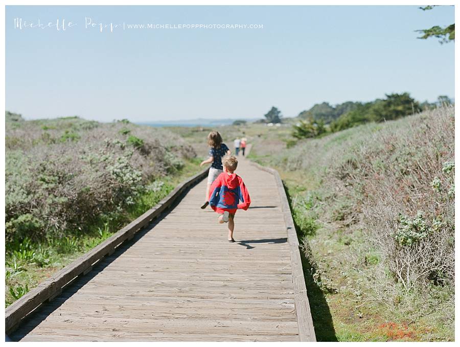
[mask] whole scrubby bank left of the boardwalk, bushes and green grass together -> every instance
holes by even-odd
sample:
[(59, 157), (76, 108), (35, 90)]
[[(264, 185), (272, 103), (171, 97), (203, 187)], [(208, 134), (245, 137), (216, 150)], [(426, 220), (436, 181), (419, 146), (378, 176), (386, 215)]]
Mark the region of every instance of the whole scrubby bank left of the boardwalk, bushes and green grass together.
[(6, 116), (6, 306), (199, 170), (166, 129)]

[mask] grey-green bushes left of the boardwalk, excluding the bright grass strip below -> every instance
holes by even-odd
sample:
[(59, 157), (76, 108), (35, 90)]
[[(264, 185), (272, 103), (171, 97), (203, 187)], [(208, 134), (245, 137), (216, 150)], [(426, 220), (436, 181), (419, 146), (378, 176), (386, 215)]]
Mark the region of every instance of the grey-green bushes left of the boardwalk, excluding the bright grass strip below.
[(195, 156), (179, 136), (129, 122), (19, 118), (6, 134), (7, 242), (85, 232)]

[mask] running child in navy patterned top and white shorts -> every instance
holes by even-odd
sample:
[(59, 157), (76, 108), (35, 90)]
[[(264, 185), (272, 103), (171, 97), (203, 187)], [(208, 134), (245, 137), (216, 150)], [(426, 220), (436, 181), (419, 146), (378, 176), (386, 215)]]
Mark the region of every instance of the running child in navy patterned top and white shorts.
[(225, 154), (229, 155), (231, 153), (227, 145), (222, 143), (222, 137), (220, 136), (218, 131), (211, 131), (208, 134), (208, 145), (211, 146), (209, 150), (209, 158), (201, 161), (200, 163), (200, 166), (212, 163), (208, 173), (208, 185), (206, 186), (206, 200), (201, 205), (202, 209), (205, 209), (206, 206), (208, 206), (209, 204), (208, 198), (211, 183), (214, 182), (217, 176), (219, 176), (223, 172), (222, 157)]

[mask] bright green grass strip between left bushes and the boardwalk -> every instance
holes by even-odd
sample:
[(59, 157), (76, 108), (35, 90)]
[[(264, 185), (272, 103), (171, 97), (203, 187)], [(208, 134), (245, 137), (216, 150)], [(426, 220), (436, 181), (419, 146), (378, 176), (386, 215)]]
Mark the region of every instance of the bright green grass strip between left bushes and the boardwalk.
[(197, 158), (188, 160), (175, 174), (151, 182), (126, 211), (101, 215), (88, 233), (70, 230), (63, 238), (41, 241), (25, 238), (7, 244), (5, 307), (156, 205), (177, 184), (200, 171), (199, 163)]

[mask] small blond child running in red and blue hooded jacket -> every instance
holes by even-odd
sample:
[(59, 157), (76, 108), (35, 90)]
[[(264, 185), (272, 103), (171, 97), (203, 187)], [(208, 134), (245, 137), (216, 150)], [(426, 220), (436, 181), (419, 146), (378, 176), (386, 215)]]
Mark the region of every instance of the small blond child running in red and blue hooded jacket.
[(235, 242), (233, 230), (235, 228), (235, 213), (237, 209), (247, 210), (251, 199), (244, 185), (243, 179), (234, 171), (238, 166), (238, 159), (234, 155), (223, 159), (224, 172), (211, 185), (209, 204), (220, 214), (219, 223), (228, 222), (228, 242)]

